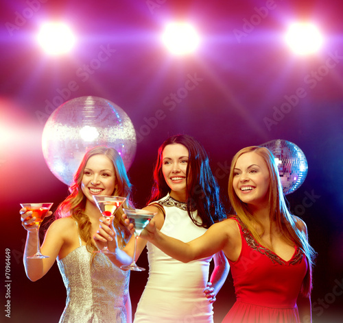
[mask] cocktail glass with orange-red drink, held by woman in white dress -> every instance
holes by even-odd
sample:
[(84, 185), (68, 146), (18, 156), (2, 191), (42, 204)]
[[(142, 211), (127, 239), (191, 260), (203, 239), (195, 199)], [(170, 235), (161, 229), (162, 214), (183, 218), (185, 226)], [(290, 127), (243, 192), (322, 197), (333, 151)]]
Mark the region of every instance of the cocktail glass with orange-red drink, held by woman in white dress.
[[(100, 212), (102, 212), (102, 216), (104, 216), (106, 220), (110, 221), (110, 224), (113, 222), (115, 213), (119, 207), (126, 201), (126, 198), (121, 196), (93, 195), (93, 198)], [(102, 250), (97, 250), (95, 252), (112, 253), (110, 250), (108, 250), (107, 244)]]

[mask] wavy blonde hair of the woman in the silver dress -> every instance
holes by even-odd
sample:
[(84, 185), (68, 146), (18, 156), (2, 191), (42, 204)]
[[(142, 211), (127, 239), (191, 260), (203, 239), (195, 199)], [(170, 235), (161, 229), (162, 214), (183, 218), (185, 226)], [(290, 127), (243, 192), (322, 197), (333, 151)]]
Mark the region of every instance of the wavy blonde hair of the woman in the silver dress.
[(71, 216), (78, 222), (78, 231), (81, 239), (86, 242), (86, 248), (90, 253), (97, 250), (97, 246), (93, 242), (91, 235), (91, 220), (84, 214), (84, 208), (86, 207), (86, 196), (82, 192), (81, 183), (84, 176), (84, 168), (86, 167), (88, 159), (95, 155), (104, 155), (113, 162), (115, 168), (115, 190), (112, 195), (126, 197), (125, 203), (121, 205), (117, 211), (115, 219), (113, 220), (113, 226), (120, 233), (118, 244), (120, 247), (126, 245), (130, 238), (130, 231), (126, 228), (123, 222), (121, 214), (123, 214), (124, 208), (132, 208), (133, 203), (130, 198), (132, 185), (126, 174), (126, 169), (123, 164), (119, 153), (114, 148), (107, 148), (104, 146), (98, 146), (87, 151), (84, 155), (78, 170), (73, 177), (73, 183), (69, 186), (69, 196), (58, 205), (56, 210), (56, 218), (64, 218)]

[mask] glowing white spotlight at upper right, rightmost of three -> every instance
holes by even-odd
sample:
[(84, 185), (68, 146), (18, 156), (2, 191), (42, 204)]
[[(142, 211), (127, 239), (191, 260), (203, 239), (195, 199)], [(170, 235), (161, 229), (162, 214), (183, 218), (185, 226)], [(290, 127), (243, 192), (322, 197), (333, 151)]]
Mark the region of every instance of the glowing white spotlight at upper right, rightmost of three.
[(289, 47), (299, 55), (316, 53), (322, 45), (322, 35), (311, 23), (294, 23), (285, 36)]

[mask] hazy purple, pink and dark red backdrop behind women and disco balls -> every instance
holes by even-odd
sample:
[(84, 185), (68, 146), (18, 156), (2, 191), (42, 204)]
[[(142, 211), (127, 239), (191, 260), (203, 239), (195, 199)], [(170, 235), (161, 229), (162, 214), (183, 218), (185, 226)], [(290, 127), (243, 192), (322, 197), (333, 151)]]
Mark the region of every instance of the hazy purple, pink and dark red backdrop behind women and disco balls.
[[(67, 196), (67, 186), (45, 163), (41, 135), (51, 112), (79, 96), (108, 99), (132, 120), (141, 138), (129, 170), (139, 207), (150, 193), (157, 148), (169, 135), (187, 133), (202, 142), (228, 207), (225, 166), (240, 148), (276, 139), (298, 145), (309, 172), (287, 200), (294, 210), (304, 206), (306, 196), (313, 198), (311, 205), (298, 207), (303, 210), (298, 216), (307, 222), (318, 251), (314, 322), (338, 322), (343, 297), (335, 294), (342, 289), (343, 272), (342, 9), (342, 1), (319, 0), (3, 2), (1, 209), (10, 219), (2, 241), (3, 249), (12, 251), (13, 322), (57, 322), (64, 307), (57, 266), (36, 283), (25, 276), (19, 203), (38, 198), (58, 205)], [(40, 22), (50, 19), (69, 23), (78, 37), (67, 57), (47, 57), (34, 40)], [(161, 44), (165, 23), (175, 19), (196, 25), (202, 42), (193, 55), (174, 57)], [(324, 34), (316, 55), (296, 56), (284, 43), (287, 26), (299, 19), (314, 21)], [(108, 59), (87, 70), (104, 48)], [(180, 92), (191, 78), (196, 87)], [(145, 131), (158, 110), (164, 118)], [(147, 266), (145, 258), (139, 261)], [(131, 277), (135, 309), (147, 274)], [(233, 299), (228, 279), (215, 303), (218, 322)]]

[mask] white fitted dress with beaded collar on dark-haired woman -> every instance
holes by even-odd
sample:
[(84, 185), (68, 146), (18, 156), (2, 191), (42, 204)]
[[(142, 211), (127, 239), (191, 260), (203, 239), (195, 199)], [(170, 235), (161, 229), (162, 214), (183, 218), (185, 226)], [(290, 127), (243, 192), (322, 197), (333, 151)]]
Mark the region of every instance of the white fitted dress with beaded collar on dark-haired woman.
[[(183, 242), (204, 234), (187, 214), (186, 203), (167, 195), (158, 201), (165, 209), (161, 232)], [(196, 220), (200, 218), (196, 216)], [(139, 300), (134, 323), (212, 323), (213, 305), (204, 295), (213, 256), (189, 263), (177, 261), (147, 242), (149, 279)]]

